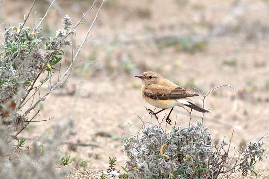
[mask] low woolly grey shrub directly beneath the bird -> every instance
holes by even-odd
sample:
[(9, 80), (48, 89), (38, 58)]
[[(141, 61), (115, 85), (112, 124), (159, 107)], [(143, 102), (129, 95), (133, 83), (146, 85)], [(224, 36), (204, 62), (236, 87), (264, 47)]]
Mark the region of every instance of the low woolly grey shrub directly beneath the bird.
[[(204, 104), (207, 94), (202, 96)], [(189, 114), (191, 116), (191, 111)], [(264, 143), (260, 142), (265, 136), (248, 143), (247, 149), (239, 151), (236, 158), (235, 154), (229, 156), (232, 137), (229, 142), (223, 139), (221, 144), (213, 145), (210, 130), (202, 123), (189, 123), (189, 127), (183, 128), (174, 126), (169, 132), (163, 130), (161, 122), (158, 126), (152, 122), (145, 126), (146, 122), (143, 122), (141, 134), (135, 133), (124, 139), (125, 168), (129, 178), (216, 179), (229, 178), (241, 170), (243, 176), (248, 172), (257, 176), (255, 161), (266, 157), (262, 149)]]

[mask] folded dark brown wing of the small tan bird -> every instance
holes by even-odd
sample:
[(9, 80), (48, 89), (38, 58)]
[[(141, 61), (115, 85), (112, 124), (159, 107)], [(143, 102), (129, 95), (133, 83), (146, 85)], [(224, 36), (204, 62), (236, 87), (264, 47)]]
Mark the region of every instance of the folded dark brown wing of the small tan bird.
[(152, 99), (180, 99), (192, 96), (199, 96), (199, 94), (190, 94), (184, 88), (177, 87), (167, 93), (156, 93), (148, 88), (144, 90), (144, 94)]

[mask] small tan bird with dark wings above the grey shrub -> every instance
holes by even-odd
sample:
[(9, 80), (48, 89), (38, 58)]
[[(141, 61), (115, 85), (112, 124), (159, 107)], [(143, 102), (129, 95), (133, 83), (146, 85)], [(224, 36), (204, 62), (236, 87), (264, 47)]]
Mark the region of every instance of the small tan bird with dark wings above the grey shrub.
[(142, 80), (142, 98), (146, 100), (149, 104), (162, 108), (162, 110), (154, 113), (152, 110), (148, 109), (152, 115), (158, 119), (156, 114), (161, 111), (172, 108), (169, 112), (166, 122), (170, 124), (171, 120), (169, 116), (175, 106), (187, 106), (194, 110), (197, 110), (202, 113), (209, 113), (208, 110), (200, 108), (199, 106), (192, 103), (192, 100), (189, 97), (199, 96), (199, 94), (190, 94), (185, 89), (179, 87), (175, 83), (161, 77), (153, 71), (147, 71), (142, 73), (141, 76), (135, 76)]

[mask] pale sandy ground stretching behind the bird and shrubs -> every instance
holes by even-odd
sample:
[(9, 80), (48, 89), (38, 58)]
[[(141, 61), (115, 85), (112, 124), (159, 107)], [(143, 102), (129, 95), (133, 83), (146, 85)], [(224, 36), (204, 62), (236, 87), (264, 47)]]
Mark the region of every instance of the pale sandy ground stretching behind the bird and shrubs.
[[(0, 8), (10, 18), (2, 17), (2, 21), (17, 26), (28, 12), (30, 2), (3, 1)], [(249, 141), (258, 141), (269, 132), (269, 4), (258, 0), (234, 3), (106, 1), (91, 31), (93, 39), (86, 42), (79, 55), (80, 64), (68, 78), (67, 85), (46, 98), (36, 117), (36, 120), (54, 119), (32, 124), (21, 136), (42, 136), (52, 123), (65, 122), (71, 111), (77, 135), (69, 140), (99, 147), (77, 147), (72, 151), (63, 146), (62, 152), (87, 160), (85, 169), (106, 169), (108, 156), (116, 157), (115, 167), (122, 170), (120, 165), (126, 156), (121, 151), (119, 138), (134, 133), (131, 125), (125, 129), (124, 126), (132, 122), (138, 131), (142, 124), (139, 117), (150, 120), (144, 105), (154, 109), (143, 101), (141, 81), (134, 75), (155, 71), (189, 92), (195, 91), (192, 88), (195, 87), (206, 94), (223, 84), (237, 88), (239, 92), (229, 87), (218, 88), (206, 97), (205, 108), (210, 109), (210, 113), (205, 115), (203, 125), (209, 127), (215, 142), (225, 136), (229, 141), (234, 129), (231, 146), (235, 150), (245, 147)], [(77, 22), (91, 3), (57, 1), (56, 5), (60, 10), (45, 21), (44, 32), (58, 30), (61, 21), (55, 19), (62, 19), (65, 14)], [(42, 6), (37, 3), (34, 11), (41, 16), (47, 7), (47, 3)], [(97, 8), (78, 29), (78, 44), (96, 11)], [(206, 43), (196, 43), (201, 39)], [(71, 55), (71, 49), (66, 54)], [(88, 63), (93, 64), (86, 73), (81, 73)], [(68, 95), (70, 91), (76, 91), (79, 96)], [(43, 88), (42, 93), (45, 92)], [(201, 105), (198, 98), (194, 101)], [(165, 113), (169, 111), (159, 116)], [(194, 113), (200, 121), (201, 113)], [(188, 126), (188, 114), (183, 108), (173, 110), (172, 126), (176, 116), (176, 125)], [(192, 118), (195, 122), (195, 116)], [(264, 148), (269, 148), (268, 138), (262, 141), (266, 143)], [(255, 165), (256, 169), (268, 169), (269, 159)]]

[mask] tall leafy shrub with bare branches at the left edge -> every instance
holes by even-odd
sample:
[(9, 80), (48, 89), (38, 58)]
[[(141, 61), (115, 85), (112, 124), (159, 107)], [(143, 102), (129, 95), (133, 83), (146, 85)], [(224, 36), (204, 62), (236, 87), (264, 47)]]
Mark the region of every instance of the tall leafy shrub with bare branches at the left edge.
[[(82, 24), (85, 16), (96, 6), (96, 0), (89, 10), (82, 14), (77, 24), (65, 15), (62, 29), (57, 30), (53, 37), (42, 36), (42, 22), (53, 13), (51, 7), (54, 1), (43, 18), (35, 17), (32, 28), (25, 26), (30, 14), (34, 14), (32, 9), (35, 2), (22, 23), (3, 30), (4, 42), (0, 54), (0, 178), (5, 179), (59, 179), (68, 172), (67, 167), (59, 171), (56, 171), (55, 167), (61, 163), (68, 165), (72, 161), (70, 156), (61, 158), (59, 146), (76, 133), (73, 120), (68, 118), (64, 124), (53, 124), (50, 132), (45, 133), (43, 138), (34, 139), (31, 146), (25, 146), (27, 140), (19, 137), (19, 134), (30, 122), (50, 120), (35, 121), (39, 114), (37, 107), (53, 90), (65, 83), (75, 66), (74, 63), (79, 63), (77, 56), (88, 40), (99, 13), (98, 11), (80, 46), (75, 48), (71, 62), (66, 63), (62, 58), (65, 48), (72, 45), (70, 37), (77, 34), (77, 26)], [(36, 21), (38, 22), (35, 23)], [(42, 74), (45, 74), (45, 77)], [(55, 76), (58, 80), (53, 83), (51, 79)], [(41, 87), (47, 88), (45, 94), (40, 90)], [(83, 160), (81, 166), (84, 168), (86, 165), (87, 161)]]

